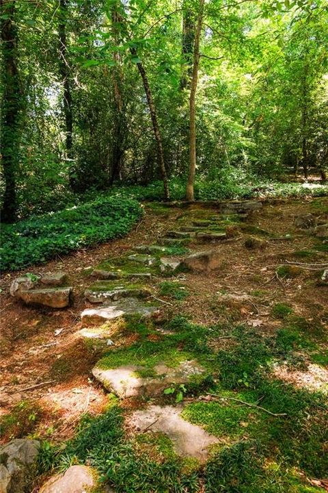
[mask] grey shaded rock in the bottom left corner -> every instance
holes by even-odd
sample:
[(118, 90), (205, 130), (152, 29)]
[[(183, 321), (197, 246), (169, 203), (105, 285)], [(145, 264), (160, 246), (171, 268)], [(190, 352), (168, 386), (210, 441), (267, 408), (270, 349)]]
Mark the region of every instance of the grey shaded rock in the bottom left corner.
[(0, 493), (25, 493), (40, 442), (19, 438), (0, 447)]

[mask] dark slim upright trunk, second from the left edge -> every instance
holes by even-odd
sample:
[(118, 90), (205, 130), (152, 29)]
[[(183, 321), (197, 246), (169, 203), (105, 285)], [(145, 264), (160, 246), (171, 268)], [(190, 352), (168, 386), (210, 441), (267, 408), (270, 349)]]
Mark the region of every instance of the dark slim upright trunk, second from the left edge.
[(64, 89), (64, 116), (65, 116), (65, 131), (66, 131), (66, 153), (68, 159), (72, 159), (72, 131), (73, 131), (73, 116), (72, 116), (72, 92), (70, 90), (70, 67), (67, 60), (67, 44), (66, 44), (66, 22), (68, 17), (68, 1), (59, 0), (59, 73)]

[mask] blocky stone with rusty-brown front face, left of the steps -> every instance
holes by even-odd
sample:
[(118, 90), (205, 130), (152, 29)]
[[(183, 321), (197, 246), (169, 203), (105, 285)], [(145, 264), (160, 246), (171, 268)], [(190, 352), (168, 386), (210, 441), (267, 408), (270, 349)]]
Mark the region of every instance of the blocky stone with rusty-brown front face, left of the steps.
[(70, 305), (72, 288), (46, 288), (19, 290), (16, 296), (27, 305), (42, 305), (51, 308), (64, 308)]

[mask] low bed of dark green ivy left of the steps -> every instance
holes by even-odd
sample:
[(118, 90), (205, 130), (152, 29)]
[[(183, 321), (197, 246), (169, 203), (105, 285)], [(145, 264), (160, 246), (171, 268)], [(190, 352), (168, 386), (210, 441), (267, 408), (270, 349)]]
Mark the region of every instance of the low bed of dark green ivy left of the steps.
[(57, 253), (68, 253), (124, 236), (141, 215), (141, 207), (136, 201), (99, 197), (61, 212), (5, 225), (2, 230), (1, 269), (17, 270), (44, 262)]

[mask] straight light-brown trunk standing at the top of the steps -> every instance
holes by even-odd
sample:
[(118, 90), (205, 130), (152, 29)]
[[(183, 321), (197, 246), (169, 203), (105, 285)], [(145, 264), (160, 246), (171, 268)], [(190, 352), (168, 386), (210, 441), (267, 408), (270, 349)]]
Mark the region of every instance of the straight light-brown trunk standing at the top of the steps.
[(198, 81), (198, 67), (200, 65), (200, 35), (202, 32), (204, 13), (204, 0), (200, 0), (200, 10), (197, 16), (197, 27), (195, 32), (195, 45), (193, 48), (193, 73), (191, 77), (191, 88), (189, 98), (189, 175), (186, 187), (186, 199), (195, 201), (193, 186), (195, 183), (196, 170), (196, 121), (195, 121), (195, 98)]

